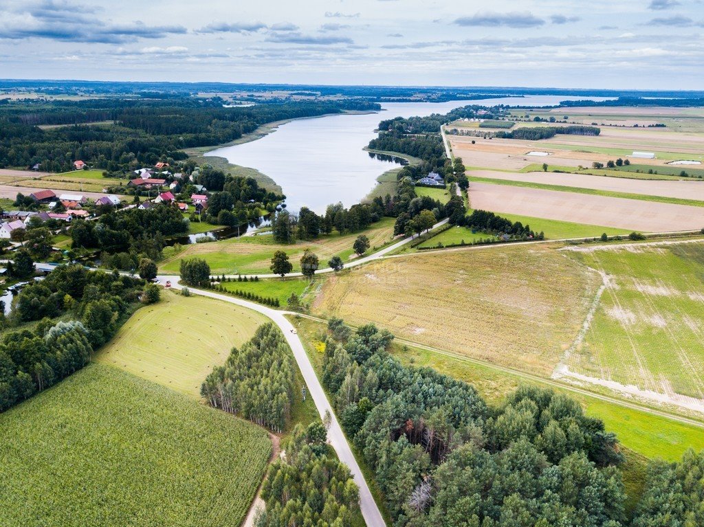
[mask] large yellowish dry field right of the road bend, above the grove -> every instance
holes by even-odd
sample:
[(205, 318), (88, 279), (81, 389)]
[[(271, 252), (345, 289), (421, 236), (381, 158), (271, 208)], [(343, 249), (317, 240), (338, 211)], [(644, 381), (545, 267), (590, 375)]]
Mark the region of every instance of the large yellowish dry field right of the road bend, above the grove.
[(597, 285), (592, 273), (547, 246), (507, 245), (351, 269), (325, 282), (312, 310), (549, 375), (582, 325)]

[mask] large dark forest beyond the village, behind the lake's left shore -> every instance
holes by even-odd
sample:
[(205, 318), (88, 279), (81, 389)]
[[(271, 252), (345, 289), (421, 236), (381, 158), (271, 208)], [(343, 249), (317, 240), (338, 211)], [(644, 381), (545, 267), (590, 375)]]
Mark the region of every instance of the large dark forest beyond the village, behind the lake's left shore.
[[(375, 110), (359, 100), (260, 104), (223, 108), (203, 99), (92, 99), (45, 101), (41, 105), (13, 101), (0, 106), (0, 167), (30, 166), (63, 172), (73, 161), (106, 170), (134, 170), (158, 160), (182, 160), (183, 148), (210, 146), (239, 139), (259, 125), (344, 110)], [(109, 116), (108, 116), (109, 114)], [(108, 119), (106, 119), (108, 118)], [(111, 120), (115, 124), (80, 124)], [(76, 123), (41, 129), (40, 124)]]

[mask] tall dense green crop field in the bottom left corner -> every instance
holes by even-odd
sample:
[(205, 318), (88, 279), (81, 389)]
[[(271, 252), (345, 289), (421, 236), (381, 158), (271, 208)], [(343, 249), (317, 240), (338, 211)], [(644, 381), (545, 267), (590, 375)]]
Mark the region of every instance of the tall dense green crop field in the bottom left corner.
[(103, 364), (0, 414), (4, 527), (232, 526), (271, 453), (262, 428)]

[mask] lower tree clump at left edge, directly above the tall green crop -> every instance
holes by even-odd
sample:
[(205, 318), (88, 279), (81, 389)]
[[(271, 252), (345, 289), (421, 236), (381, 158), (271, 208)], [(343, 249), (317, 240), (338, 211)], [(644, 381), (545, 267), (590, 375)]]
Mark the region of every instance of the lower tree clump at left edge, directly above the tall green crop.
[(34, 331), (5, 334), (0, 341), (0, 412), (84, 367), (93, 348), (78, 321), (44, 319)]

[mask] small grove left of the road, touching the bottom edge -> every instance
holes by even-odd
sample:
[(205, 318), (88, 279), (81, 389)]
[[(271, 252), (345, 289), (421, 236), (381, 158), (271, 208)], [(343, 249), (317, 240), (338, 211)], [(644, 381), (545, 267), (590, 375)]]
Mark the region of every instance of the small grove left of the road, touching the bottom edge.
[(262, 485), (266, 509), (256, 527), (346, 527), (359, 510), (359, 490), (348, 467), (326, 445), (325, 427), (296, 425)]

